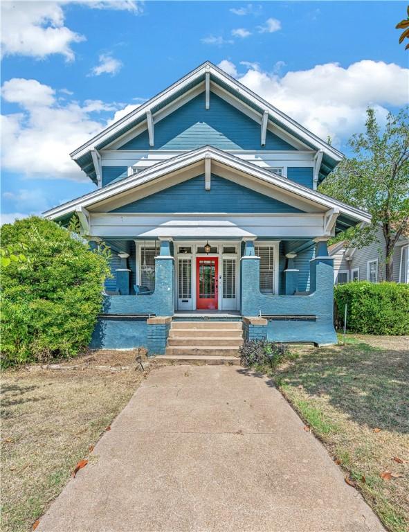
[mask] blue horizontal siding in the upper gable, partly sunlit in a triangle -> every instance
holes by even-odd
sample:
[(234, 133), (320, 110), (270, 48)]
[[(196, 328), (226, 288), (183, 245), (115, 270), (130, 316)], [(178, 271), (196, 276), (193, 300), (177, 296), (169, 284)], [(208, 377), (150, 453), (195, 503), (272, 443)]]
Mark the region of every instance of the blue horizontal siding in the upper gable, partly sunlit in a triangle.
[(270, 131), (262, 148), (259, 124), (215, 94), (206, 110), (204, 92), (155, 125), (153, 148), (146, 130), (119, 149), (194, 150), (203, 145), (221, 150), (296, 150)]

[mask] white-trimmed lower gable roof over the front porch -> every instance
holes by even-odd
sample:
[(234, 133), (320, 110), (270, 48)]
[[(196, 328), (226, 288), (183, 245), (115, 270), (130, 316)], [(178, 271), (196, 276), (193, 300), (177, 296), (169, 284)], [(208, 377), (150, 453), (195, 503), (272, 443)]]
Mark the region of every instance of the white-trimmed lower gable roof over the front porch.
[[(335, 213), (339, 213), (338, 219), (340, 220), (341, 229), (343, 225), (350, 227), (357, 222), (370, 223), (371, 216), (365, 211), (338, 202), (336, 199), (332, 199), (316, 190), (311, 190), (310, 188), (302, 186), (295, 181), (291, 181), (286, 177), (281, 177), (269, 170), (264, 170), (259, 166), (255, 166), (253, 163), (239, 159), (232, 154), (217, 150), (217, 148), (212, 148), (211, 146), (204, 146), (203, 148), (192, 150), (191, 152), (179, 154), (172, 159), (166, 159), (161, 163), (156, 163), (154, 166), (138, 172), (137, 174), (120, 179), (120, 181), (104, 186), (104, 188), (98, 188), (98, 190), (87, 195), (73, 199), (71, 202), (66, 202), (54, 209), (46, 211), (44, 215), (51, 220), (64, 218), (64, 216), (70, 215), (78, 209), (87, 209), (87, 207), (96, 206), (102, 202), (113, 199), (114, 197), (126, 195), (131, 190), (135, 190), (140, 186), (146, 185), (155, 179), (170, 175), (173, 172), (180, 172), (182, 169), (188, 167), (194, 168), (209, 158), (212, 163), (219, 163), (225, 168), (228, 168), (228, 170), (242, 172), (248, 177), (256, 179), (271, 188), (272, 191), (275, 190), (279, 193), (284, 193), (290, 198), (292, 197), (298, 201), (302, 200), (322, 210), (330, 211), (333, 209)], [(198, 173), (199, 172), (201, 172), (201, 170), (198, 170)]]

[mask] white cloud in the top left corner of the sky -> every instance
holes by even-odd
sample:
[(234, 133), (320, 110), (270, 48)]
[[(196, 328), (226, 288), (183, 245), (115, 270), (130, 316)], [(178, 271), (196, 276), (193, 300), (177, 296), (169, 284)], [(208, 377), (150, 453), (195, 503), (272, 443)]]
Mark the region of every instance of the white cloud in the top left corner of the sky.
[(60, 53), (74, 59), (71, 44), (85, 39), (64, 26), (61, 4), (53, 1), (1, 2), (3, 55), (29, 55), (43, 59)]

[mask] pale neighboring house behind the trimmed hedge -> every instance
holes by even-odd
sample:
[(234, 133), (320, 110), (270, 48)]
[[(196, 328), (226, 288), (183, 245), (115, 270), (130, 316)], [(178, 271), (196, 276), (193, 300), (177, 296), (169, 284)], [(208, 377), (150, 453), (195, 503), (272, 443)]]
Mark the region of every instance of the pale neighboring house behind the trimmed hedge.
[[(346, 242), (329, 246), (328, 254), (334, 257), (334, 283), (349, 281), (385, 281), (385, 239), (382, 229), (376, 241), (361, 249), (347, 247)], [(394, 248), (393, 281), (409, 283), (409, 237), (402, 237)]]

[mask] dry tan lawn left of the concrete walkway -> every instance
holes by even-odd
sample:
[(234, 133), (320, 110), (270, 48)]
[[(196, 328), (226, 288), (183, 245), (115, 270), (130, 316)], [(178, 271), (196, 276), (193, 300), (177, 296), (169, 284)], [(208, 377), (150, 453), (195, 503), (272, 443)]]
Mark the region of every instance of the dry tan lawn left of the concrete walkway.
[(31, 529), (62, 491), (80, 459), (98, 459), (90, 445), (122, 410), (144, 374), (103, 371), (131, 366), (135, 353), (98, 353), (64, 365), (2, 375), (1, 499), (3, 532)]

